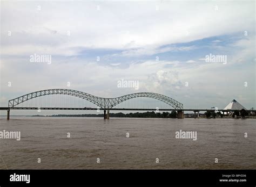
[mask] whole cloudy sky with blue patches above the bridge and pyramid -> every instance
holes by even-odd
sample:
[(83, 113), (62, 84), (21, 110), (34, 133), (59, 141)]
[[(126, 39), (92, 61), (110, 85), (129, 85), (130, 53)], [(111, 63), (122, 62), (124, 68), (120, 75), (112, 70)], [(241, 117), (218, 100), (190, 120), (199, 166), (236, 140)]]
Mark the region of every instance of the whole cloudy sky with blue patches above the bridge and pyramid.
[[(31, 62), (34, 54), (51, 63)], [(206, 62), (210, 54), (227, 61)], [(184, 108), (222, 109), (232, 99), (255, 108), (255, 2), (1, 1), (0, 68), (1, 106), (66, 88), (100, 97), (157, 92)], [(122, 79), (139, 89), (118, 88)]]

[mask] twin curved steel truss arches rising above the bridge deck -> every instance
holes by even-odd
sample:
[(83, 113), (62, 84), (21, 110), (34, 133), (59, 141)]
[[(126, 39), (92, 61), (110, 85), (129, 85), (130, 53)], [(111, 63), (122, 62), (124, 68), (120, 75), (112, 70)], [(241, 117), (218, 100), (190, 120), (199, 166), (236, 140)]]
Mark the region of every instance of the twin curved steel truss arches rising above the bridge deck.
[(53, 95), (53, 94), (62, 94), (62, 95), (70, 95), (75, 96), (79, 98), (83, 98), (88, 100), (91, 103), (96, 104), (97, 106), (101, 107), (102, 109), (111, 109), (113, 106), (116, 106), (119, 103), (124, 102), (125, 100), (129, 100), (136, 97), (147, 97), (147, 98), (153, 98), (158, 99), (170, 106), (172, 106), (174, 109), (182, 110), (183, 104), (177, 102), (177, 100), (172, 99), (171, 97), (161, 95), (159, 93), (153, 93), (153, 92), (139, 92), (139, 93), (131, 93), (129, 95), (120, 96), (116, 98), (104, 98), (104, 97), (97, 97), (90, 95), (89, 93), (85, 93), (82, 91), (77, 90), (69, 90), (69, 89), (48, 89), (48, 90), (41, 90), (41, 91), (35, 91), (32, 93), (28, 93), (26, 95), (23, 95), (21, 97), (17, 97), (15, 99), (9, 100), (8, 107), (14, 107), (18, 104), (21, 104), (25, 102), (26, 100), (30, 100), (36, 97), (41, 97), (45, 95)]

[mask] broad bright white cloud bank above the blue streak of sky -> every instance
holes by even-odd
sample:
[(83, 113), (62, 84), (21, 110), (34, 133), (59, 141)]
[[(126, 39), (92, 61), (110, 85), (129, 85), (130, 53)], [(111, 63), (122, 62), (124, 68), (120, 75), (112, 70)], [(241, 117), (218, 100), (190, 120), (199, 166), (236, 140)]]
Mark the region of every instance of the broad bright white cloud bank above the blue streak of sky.
[(254, 25), (250, 2), (218, 2), (219, 11), (215, 11), (214, 2), (161, 2), (159, 11), (155, 2), (57, 1), (40, 5), (38, 11), (37, 2), (2, 2), (4, 54), (16, 54), (9, 50), (10, 46), (14, 51), (24, 48), (21, 53), (26, 54), (40, 46), (63, 55), (77, 54), (79, 47), (123, 49), (123, 55), (162, 53), (173, 50), (160, 49), (163, 45), (230, 31), (253, 31)]

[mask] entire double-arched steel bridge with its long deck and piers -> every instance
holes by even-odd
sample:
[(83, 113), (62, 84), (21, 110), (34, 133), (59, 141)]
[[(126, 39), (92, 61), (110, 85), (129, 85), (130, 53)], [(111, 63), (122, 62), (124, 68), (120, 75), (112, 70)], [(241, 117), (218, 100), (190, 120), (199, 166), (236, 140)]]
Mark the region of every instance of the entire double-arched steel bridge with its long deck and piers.
[[(73, 97), (78, 97), (85, 99), (98, 107), (28, 107), (28, 106), (19, 106), (22, 103), (27, 102), (28, 100), (35, 99), (38, 97), (48, 96), (48, 95), (69, 95)], [(133, 98), (152, 98), (157, 99), (160, 102), (166, 103), (167, 106), (170, 108), (167, 109), (156, 109), (156, 108), (118, 108), (115, 107), (116, 105), (125, 102), (126, 100), (133, 99)], [(82, 91), (77, 90), (70, 90), (70, 89), (48, 89), (48, 90), (40, 90), (31, 93), (27, 93), (25, 95), (19, 96), (14, 99), (10, 99), (8, 102), (8, 107), (0, 107), (0, 110), (7, 111), (7, 119), (10, 119), (10, 110), (97, 110), (97, 111), (104, 111), (104, 119), (109, 119), (109, 111), (117, 111), (117, 110), (130, 110), (130, 111), (177, 111), (178, 118), (184, 118), (184, 111), (194, 111), (194, 115), (196, 117), (196, 112), (199, 111), (215, 111), (215, 109), (183, 109), (183, 104), (178, 102), (177, 100), (161, 95), (159, 93), (153, 92), (138, 92), (138, 93), (131, 93), (129, 95), (124, 95), (115, 98), (104, 98), (90, 95), (89, 93), (85, 93)], [(230, 112), (230, 110), (218, 110), (223, 112)]]

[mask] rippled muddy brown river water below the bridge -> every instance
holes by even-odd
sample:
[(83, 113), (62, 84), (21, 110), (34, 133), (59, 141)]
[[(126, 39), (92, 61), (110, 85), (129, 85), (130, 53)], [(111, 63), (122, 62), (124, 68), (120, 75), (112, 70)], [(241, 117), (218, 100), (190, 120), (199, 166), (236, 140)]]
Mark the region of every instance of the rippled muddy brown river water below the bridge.
[(21, 141), (0, 139), (0, 169), (256, 169), (255, 119), (11, 118), (0, 131)]

